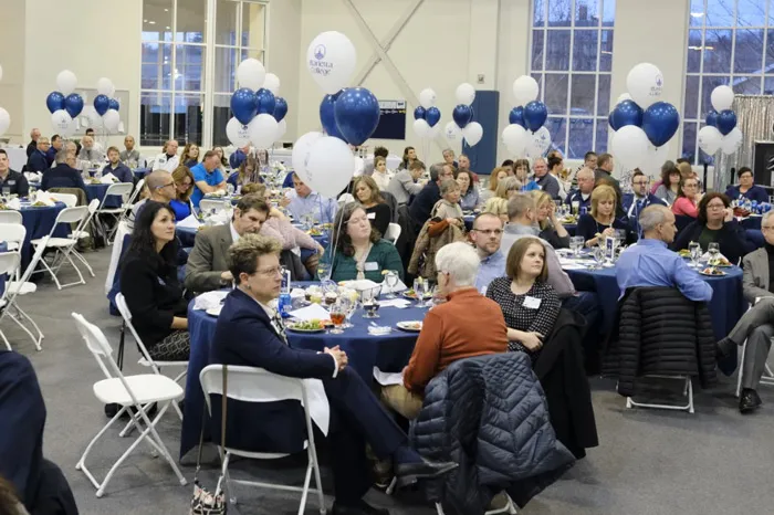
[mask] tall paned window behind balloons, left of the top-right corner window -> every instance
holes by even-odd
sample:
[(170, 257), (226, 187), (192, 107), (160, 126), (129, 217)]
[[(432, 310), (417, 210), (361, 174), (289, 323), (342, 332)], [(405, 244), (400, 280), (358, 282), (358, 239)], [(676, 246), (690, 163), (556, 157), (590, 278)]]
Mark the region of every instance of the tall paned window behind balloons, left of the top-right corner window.
[(531, 73), (552, 146), (571, 159), (607, 150), (615, 11), (615, 0), (533, 0)]

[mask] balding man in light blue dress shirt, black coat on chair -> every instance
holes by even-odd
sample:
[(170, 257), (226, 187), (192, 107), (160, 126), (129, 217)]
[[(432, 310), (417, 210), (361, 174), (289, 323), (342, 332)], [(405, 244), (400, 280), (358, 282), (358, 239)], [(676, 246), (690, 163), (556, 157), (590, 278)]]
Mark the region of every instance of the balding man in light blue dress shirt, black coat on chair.
[(689, 299), (709, 302), (712, 287), (667, 245), (674, 240), (674, 214), (665, 206), (650, 206), (639, 217), (642, 238), (625, 250), (616, 263), (620, 295), (630, 287), (677, 287)]

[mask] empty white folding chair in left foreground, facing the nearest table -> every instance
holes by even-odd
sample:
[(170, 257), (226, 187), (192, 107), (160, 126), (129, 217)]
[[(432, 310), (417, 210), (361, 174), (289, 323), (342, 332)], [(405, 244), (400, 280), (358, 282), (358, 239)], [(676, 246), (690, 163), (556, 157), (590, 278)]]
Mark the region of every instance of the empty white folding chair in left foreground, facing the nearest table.
[[(187, 481), (180, 473), (177, 463), (172, 459), (171, 454), (167, 450), (166, 445), (161, 441), (161, 437), (156, 432), (156, 424), (161, 419), (164, 413), (166, 413), (169, 404), (177, 402), (185, 395), (182, 388), (177, 382), (172, 381), (166, 376), (158, 374), (143, 374), (137, 376), (124, 376), (121, 369), (113, 359), (113, 348), (111, 344), (105, 338), (105, 335), (93, 324), (86, 322), (86, 319), (73, 313), (73, 318), (75, 319), (75, 325), (77, 326), (79, 333), (83, 336), (86, 347), (91, 350), (94, 359), (96, 359), (97, 365), (105, 375), (105, 379), (94, 383), (94, 396), (102, 403), (116, 403), (121, 404), (121, 410), (111, 419), (109, 422), (88, 442), (86, 450), (79, 460), (75, 469), (83, 471), (92, 482), (96, 491), (96, 496), (102, 497), (107, 483), (113, 477), (113, 474), (118, 469), (118, 466), (126, 460), (126, 458), (132, 454), (132, 451), (142, 442), (147, 441), (151, 448), (151, 451), (158, 452), (164, 456), (164, 459), (169, 463), (169, 466), (175, 471), (175, 475), (180, 481), (181, 485), (186, 485)], [(145, 412), (145, 407), (158, 402), (160, 409), (156, 418), (150, 421), (147, 413)], [(129, 409), (133, 408), (133, 409)], [(92, 450), (92, 446), (96, 441), (113, 425), (113, 423), (118, 420), (125, 412), (129, 413), (129, 417), (134, 420), (137, 428), (144, 428), (137, 440), (129, 445), (129, 448), (122, 454), (122, 456), (116, 461), (102, 483), (97, 482), (92, 473), (86, 469), (86, 456)], [(154, 452), (154, 458), (155, 458)]]

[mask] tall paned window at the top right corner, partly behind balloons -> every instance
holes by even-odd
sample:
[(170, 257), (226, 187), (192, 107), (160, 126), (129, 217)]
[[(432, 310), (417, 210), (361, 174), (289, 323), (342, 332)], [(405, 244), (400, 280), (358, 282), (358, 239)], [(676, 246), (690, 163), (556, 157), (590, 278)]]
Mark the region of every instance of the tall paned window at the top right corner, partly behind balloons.
[(774, 94), (774, 0), (691, 0), (686, 72), (682, 157), (712, 164), (697, 141), (712, 90)]

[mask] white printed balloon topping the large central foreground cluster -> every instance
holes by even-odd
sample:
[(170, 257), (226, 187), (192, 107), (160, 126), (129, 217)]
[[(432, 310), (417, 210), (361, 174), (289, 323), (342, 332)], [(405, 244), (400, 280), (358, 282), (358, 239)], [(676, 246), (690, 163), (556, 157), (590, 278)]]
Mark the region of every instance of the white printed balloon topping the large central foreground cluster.
[(325, 93), (333, 95), (349, 84), (357, 52), (352, 41), (341, 32), (323, 32), (306, 49), (306, 63), (312, 78)]

